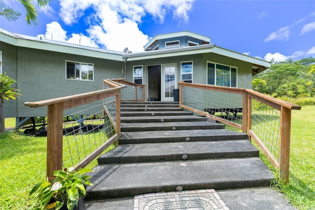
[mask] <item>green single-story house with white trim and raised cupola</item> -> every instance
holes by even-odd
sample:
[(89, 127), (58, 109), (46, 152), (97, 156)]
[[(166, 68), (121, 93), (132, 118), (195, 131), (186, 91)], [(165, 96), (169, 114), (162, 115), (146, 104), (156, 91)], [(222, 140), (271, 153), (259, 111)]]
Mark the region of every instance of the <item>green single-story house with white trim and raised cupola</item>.
[(46, 116), (24, 102), (101, 90), (103, 79), (126, 78), (146, 85), (146, 100), (172, 101), (179, 81), (251, 89), (252, 76), (270, 67), (190, 31), (156, 35), (127, 54), (0, 29), (0, 60), (23, 94), (4, 103), (5, 118)]

